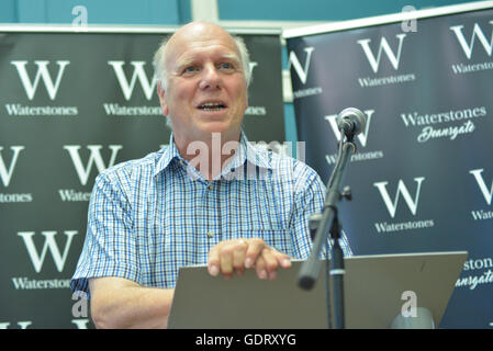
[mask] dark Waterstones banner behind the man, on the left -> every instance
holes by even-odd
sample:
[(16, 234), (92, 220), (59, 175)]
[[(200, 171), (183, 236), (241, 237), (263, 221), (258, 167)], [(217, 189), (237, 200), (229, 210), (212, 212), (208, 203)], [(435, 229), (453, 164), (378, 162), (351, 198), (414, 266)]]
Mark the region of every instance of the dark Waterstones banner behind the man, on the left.
[[(152, 59), (171, 32), (0, 27), (0, 329), (93, 327), (69, 290), (90, 193), (169, 143)], [(244, 129), (282, 145), (280, 31), (231, 32), (251, 57)]]

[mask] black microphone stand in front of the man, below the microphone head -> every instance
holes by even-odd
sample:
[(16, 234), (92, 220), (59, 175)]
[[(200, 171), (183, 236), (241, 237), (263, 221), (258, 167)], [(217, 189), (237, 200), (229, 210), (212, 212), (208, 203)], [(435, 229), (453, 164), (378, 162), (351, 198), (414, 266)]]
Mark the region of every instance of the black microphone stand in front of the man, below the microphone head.
[[(349, 188), (345, 188), (343, 192), (339, 191), (340, 183), (343, 182), (347, 165), (350, 156), (356, 152), (356, 144), (354, 143), (354, 134), (346, 135), (346, 141), (343, 141), (344, 134), (340, 134), (339, 140), (339, 154), (337, 157), (336, 166), (327, 184), (325, 203), (322, 212), (322, 217), (318, 216), (318, 220), (311, 222), (312, 230), (315, 230), (316, 235), (313, 244), (313, 251), (310, 258), (303, 262), (299, 273), (299, 285), (302, 288), (311, 290), (315, 281), (318, 278), (320, 268), (322, 261), (318, 259), (323, 248), (327, 247), (328, 233), (332, 238), (330, 249), (330, 271), (333, 276), (333, 307), (334, 307), (334, 328), (345, 328), (345, 313), (344, 313), (344, 252), (339, 245), (340, 238), (340, 223), (337, 216), (337, 202), (341, 199), (351, 200)], [(313, 233), (313, 231), (312, 231)], [(313, 238), (312, 238), (313, 239)], [(328, 256), (326, 258), (328, 260)], [(328, 326), (330, 326), (330, 305), (329, 305), (329, 288), (327, 286), (327, 314)]]

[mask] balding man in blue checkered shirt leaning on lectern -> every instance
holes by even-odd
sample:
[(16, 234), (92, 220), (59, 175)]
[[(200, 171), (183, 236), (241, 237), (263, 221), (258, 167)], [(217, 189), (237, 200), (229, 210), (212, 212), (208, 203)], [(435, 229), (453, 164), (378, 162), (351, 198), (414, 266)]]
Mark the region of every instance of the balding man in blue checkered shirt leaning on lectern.
[(71, 282), (90, 294), (97, 327), (166, 327), (180, 267), (273, 280), (290, 257), (310, 254), (307, 217), (324, 186), (304, 163), (243, 135), (247, 60), (239, 39), (201, 22), (156, 53), (169, 147), (98, 176)]

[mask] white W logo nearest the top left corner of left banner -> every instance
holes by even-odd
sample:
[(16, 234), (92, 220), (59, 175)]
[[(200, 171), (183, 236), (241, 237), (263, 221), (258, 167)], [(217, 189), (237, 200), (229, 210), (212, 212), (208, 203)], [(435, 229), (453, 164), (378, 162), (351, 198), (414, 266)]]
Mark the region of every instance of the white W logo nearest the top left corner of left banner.
[(56, 61), (56, 64), (58, 65), (58, 73), (56, 76), (55, 83), (53, 83), (52, 76), (49, 75), (47, 68), (49, 61), (34, 61), (34, 64), (36, 64), (37, 66), (34, 82), (31, 82), (31, 79), (27, 76), (27, 70), (25, 69), (25, 65), (27, 64), (27, 61), (10, 61), (10, 64), (14, 65), (15, 68), (18, 69), (19, 77), (21, 78), (22, 84), (24, 86), (25, 93), (27, 94), (29, 100), (33, 100), (34, 94), (36, 93), (37, 84), (40, 83), (40, 79), (43, 79), (49, 99), (55, 100), (56, 93), (60, 86), (61, 76), (64, 75), (65, 71), (65, 67), (68, 64), (70, 64), (70, 61)]

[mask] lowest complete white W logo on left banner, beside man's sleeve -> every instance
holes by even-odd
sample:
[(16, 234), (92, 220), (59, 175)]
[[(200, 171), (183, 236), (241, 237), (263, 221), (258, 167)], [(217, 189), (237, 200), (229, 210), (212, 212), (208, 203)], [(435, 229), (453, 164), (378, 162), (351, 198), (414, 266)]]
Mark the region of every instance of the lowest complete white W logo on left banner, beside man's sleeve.
[(67, 260), (68, 251), (70, 249), (70, 244), (74, 236), (77, 235), (77, 230), (65, 230), (64, 234), (67, 236), (67, 241), (65, 242), (64, 253), (60, 253), (58, 246), (55, 241), (56, 231), (54, 230), (45, 230), (41, 233), (45, 237), (45, 242), (43, 245), (43, 249), (41, 254), (37, 252), (36, 247), (34, 246), (33, 236), (34, 231), (19, 231), (18, 235), (22, 237), (24, 240), (25, 247), (27, 249), (27, 253), (31, 258), (31, 262), (33, 262), (34, 270), (36, 273), (40, 273), (43, 268), (43, 262), (46, 257), (46, 252), (49, 250), (52, 252), (53, 260), (55, 261), (56, 269), (58, 272), (64, 270), (65, 261)]

